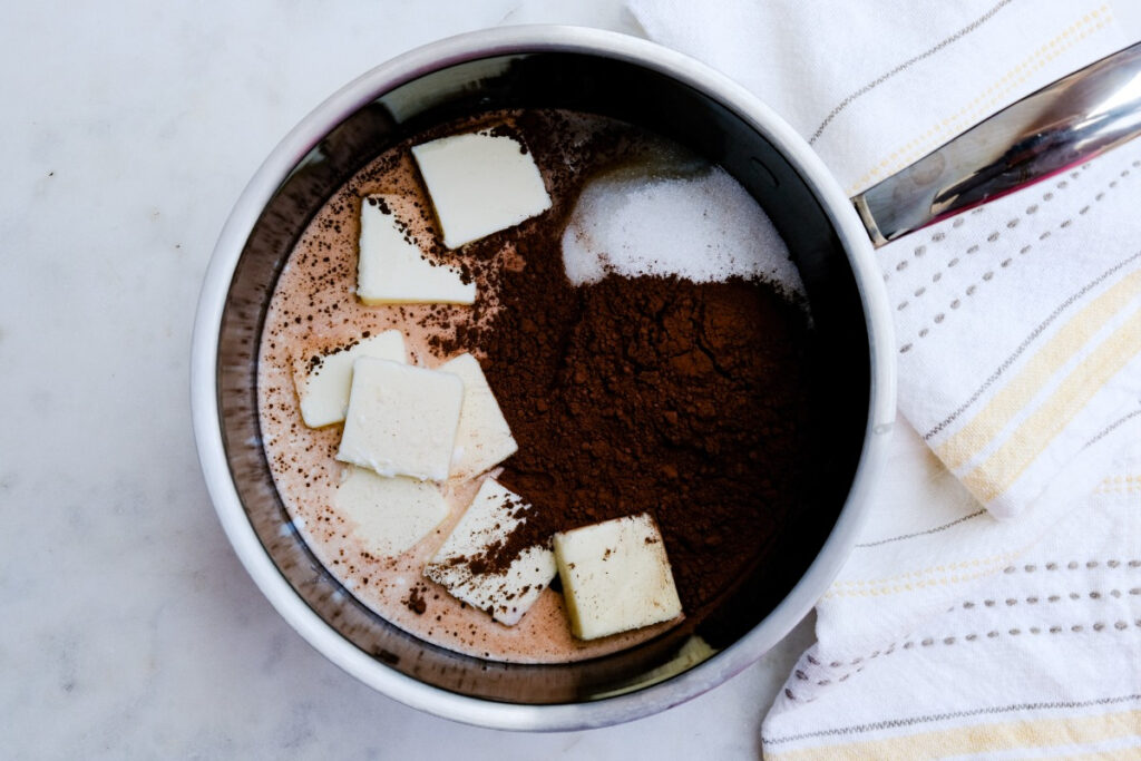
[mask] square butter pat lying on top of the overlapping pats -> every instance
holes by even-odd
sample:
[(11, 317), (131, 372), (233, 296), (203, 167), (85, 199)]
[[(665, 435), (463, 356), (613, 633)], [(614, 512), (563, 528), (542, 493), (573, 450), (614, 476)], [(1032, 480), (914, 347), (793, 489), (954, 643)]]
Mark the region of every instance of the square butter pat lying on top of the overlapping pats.
[(361, 357), (337, 459), (381, 476), (447, 478), (463, 403), (458, 375)]

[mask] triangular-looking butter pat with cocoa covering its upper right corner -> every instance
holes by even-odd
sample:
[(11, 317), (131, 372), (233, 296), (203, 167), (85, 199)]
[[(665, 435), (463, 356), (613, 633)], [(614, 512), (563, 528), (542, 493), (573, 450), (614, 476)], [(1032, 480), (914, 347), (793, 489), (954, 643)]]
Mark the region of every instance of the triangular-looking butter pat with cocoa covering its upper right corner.
[(399, 196), (370, 195), (361, 201), (357, 297), (378, 303), (471, 303), (476, 284), (460, 270), (431, 262), (396, 218)]

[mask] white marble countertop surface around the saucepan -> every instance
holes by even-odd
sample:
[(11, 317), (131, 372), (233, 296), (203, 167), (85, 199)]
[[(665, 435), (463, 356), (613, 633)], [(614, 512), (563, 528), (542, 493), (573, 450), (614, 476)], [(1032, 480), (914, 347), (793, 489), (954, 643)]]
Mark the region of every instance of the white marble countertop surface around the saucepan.
[[(721, 688), (588, 732), (451, 723), (296, 634), (199, 471), (202, 274), (262, 157), (385, 59), (500, 23), (637, 30), (617, 0), (0, 10), (0, 755), (755, 759), (810, 629)], [(634, 745), (637, 743), (637, 745)]]

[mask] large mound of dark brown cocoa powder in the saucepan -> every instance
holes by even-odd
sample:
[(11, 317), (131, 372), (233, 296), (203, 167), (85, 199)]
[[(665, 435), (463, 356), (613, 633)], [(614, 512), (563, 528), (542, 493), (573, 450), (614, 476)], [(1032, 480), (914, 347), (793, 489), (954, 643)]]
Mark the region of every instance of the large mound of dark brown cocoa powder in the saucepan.
[[(544, 144), (549, 132), (520, 126), (547, 163), (558, 149)], [(600, 140), (601, 152), (616, 139)], [(499, 273), (494, 319), (435, 346), (485, 357), (519, 445), (499, 480), (534, 505), (505, 542), (470, 561), (504, 569), (555, 532), (649, 512), (693, 618), (731, 592), (802, 502), (806, 314), (774, 286), (741, 278), (612, 274), (573, 285), (560, 256), (575, 197), (558, 192), (567, 179), (549, 178), (556, 205), (544, 224), (510, 235), (523, 266)]]

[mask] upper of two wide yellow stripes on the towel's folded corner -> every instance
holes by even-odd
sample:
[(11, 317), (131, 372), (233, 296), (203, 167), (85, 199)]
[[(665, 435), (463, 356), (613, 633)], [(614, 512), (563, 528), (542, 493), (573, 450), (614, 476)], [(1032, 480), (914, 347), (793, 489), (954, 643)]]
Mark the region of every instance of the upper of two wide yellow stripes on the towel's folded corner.
[(1073, 317), (971, 422), (936, 447), (948, 469), (969, 462), (1018, 414), (1094, 333), (1141, 294), (1141, 270), (1123, 277)]

